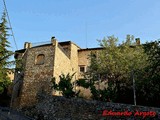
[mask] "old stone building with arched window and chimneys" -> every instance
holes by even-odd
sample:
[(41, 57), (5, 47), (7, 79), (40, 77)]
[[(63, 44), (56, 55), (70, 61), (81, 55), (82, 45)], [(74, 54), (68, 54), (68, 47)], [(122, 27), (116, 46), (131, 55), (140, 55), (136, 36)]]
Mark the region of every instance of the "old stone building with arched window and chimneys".
[(81, 49), (71, 41), (58, 42), (54, 37), (47, 44), (26, 42), (24, 49), (15, 52), (15, 59), (21, 61), (16, 66), (11, 107), (33, 105), (38, 92), (52, 92), (51, 79), (58, 80), (62, 73), (75, 73), (74, 80), (82, 78), (89, 65), (90, 52), (101, 49)]

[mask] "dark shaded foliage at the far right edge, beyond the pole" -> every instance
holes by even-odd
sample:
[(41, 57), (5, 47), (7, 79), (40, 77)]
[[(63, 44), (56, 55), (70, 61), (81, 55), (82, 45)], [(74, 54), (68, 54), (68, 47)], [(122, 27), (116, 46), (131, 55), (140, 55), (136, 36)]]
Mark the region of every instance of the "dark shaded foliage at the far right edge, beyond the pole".
[(160, 40), (146, 43), (144, 50), (148, 55), (148, 66), (138, 76), (141, 80), (137, 81), (137, 98), (142, 105), (160, 107)]

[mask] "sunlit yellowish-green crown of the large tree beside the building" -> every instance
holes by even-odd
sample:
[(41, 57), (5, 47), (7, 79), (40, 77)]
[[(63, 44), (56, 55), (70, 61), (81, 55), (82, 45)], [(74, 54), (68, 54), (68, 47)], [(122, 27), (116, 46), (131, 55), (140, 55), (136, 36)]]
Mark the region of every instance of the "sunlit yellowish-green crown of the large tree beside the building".
[[(132, 39), (128, 39), (117, 46), (118, 38), (110, 36), (100, 41), (100, 45), (105, 48), (96, 59), (98, 70), (105, 73), (107, 79), (127, 78), (132, 70), (142, 69), (146, 65), (146, 55), (141, 46), (136, 46)], [(92, 67), (92, 64), (91, 64)]]

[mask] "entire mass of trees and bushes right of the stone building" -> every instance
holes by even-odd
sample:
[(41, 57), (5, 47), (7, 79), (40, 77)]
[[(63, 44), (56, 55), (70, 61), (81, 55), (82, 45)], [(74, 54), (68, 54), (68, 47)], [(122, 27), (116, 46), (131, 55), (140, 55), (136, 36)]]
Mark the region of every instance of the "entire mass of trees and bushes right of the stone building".
[(160, 40), (138, 45), (133, 39), (127, 35), (126, 41), (120, 45), (114, 36), (99, 41), (104, 50), (96, 57), (91, 53), (87, 76), (94, 78), (93, 81), (107, 80), (108, 85), (103, 90), (96, 89), (93, 84), (89, 88), (94, 99), (133, 103), (133, 71), (137, 104), (159, 106)]

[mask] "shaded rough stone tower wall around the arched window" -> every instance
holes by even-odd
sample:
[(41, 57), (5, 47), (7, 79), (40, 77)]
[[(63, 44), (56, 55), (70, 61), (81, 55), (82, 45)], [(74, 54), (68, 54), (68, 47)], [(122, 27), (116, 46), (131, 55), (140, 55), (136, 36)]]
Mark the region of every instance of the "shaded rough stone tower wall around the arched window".
[[(45, 55), (43, 64), (35, 63), (39, 54)], [(52, 45), (28, 49), (19, 107), (34, 104), (39, 91), (51, 91), (49, 86), (53, 77), (54, 54), (54, 46)]]

